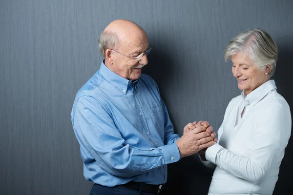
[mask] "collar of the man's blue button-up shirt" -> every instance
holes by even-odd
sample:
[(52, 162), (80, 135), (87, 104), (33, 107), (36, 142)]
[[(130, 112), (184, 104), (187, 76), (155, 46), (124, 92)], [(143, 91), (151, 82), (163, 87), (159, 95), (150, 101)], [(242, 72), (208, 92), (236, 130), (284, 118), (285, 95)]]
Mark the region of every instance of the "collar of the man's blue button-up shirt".
[[(110, 83), (115, 85), (116, 88), (118, 88), (124, 94), (126, 94), (127, 89), (129, 90), (128, 85), (131, 84), (131, 86), (132, 86), (132, 80), (128, 80), (126, 78), (123, 78), (123, 77), (117, 75), (116, 73), (112, 72), (111, 70), (109, 70), (104, 63), (104, 59), (101, 62), (100, 73), (107, 81), (109, 81)], [(138, 80), (137, 80), (137, 82), (138, 82)], [(135, 83), (137, 83), (137, 82), (135, 82)], [(135, 85), (133, 85), (133, 86), (135, 87)]]

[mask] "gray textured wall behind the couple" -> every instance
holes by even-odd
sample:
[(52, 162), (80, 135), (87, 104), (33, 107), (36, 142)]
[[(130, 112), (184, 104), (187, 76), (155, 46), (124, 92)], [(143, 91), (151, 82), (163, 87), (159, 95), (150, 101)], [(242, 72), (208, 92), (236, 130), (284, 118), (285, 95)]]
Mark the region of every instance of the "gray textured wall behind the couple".
[[(99, 69), (100, 33), (122, 18), (148, 34), (154, 50), (144, 72), (157, 81), (179, 135), (193, 120), (220, 126), (240, 94), (223, 50), (248, 28), (264, 28), (277, 42), (274, 78), (293, 108), (293, 1), (0, 0), (1, 195), (89, 193), (69, 115), (76, 92)], [(275, 195), (293, 190), (292, 144)], [(211, 174), (195, 156), (184, 158), (169, 165), (170, 192), (207, 194)]]

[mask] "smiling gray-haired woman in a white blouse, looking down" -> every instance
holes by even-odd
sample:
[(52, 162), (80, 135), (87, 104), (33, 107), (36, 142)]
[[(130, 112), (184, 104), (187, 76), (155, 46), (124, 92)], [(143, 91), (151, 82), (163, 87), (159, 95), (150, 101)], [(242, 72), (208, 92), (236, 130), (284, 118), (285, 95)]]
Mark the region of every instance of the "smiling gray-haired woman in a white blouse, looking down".
[(270, 80), (277, 55), (261, 29), (240, 33), (226, 47), (242, 93), (230, 101), (217, 143), (199, 153), (205, 165), (216, 165), (209, 195), (272, 195), (291, 135), (289, 105)]

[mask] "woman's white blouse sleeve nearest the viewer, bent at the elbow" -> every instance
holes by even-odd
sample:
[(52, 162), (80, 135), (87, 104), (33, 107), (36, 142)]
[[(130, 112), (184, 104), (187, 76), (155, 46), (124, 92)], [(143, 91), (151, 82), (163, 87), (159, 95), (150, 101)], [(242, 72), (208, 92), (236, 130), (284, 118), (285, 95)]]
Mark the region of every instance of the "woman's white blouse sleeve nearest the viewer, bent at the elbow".
[(207, 149), (206, 158), (234, 176), (254, 184), (261, 182), (281, 162), (291, 134), (290, 109), (278, 104), (267, 107), (263, 113), (251, 123), (251, 158), (233, 154), (218, 143)]

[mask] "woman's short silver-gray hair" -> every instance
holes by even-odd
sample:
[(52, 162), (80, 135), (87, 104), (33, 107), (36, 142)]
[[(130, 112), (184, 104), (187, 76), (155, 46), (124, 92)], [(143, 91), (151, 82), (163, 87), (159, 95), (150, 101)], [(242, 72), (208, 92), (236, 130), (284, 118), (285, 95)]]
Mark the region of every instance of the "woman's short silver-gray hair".
[(251, 60), (261, 71), (272, 64), (268, 73), (269, 77), (272, 77), (278, 59), (278, 48), (266, 31), (262, 29), (247, 30), (231, 39), (225, 48), (225, 60), (231, 59), (233, 54), (239, 52), (249, 52)]

